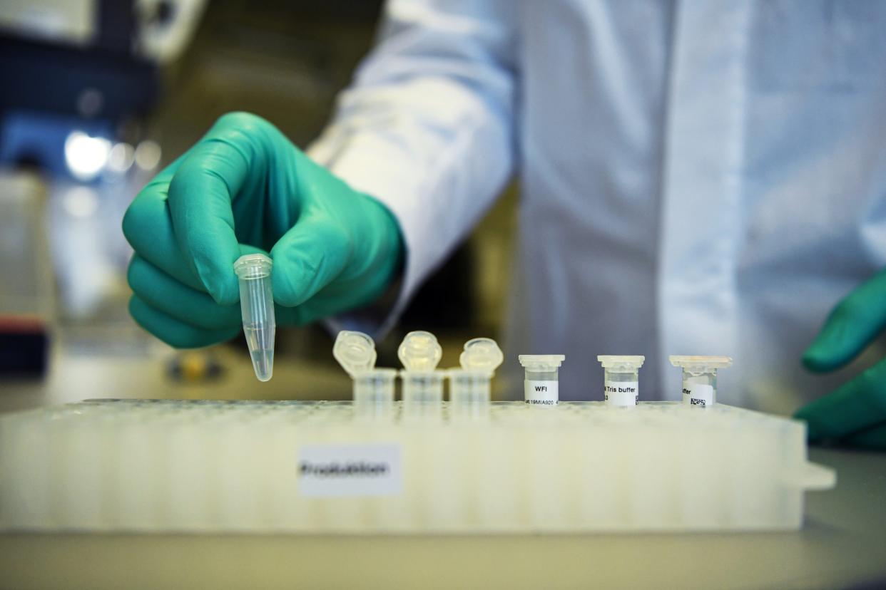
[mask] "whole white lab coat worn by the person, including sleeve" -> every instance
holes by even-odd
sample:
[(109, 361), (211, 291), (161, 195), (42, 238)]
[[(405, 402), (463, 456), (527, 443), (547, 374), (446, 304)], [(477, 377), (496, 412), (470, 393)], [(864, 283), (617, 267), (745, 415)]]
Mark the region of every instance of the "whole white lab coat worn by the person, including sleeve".
[(729, 355), (720, 402), (789, 411), (869, 362), (799, 359), (886, 264), (884, 31), (876, 0), (394, 0), (310, 153), (399, 219), (398, 309), (516, 171), (506, 352), (566, 354), (561, 399), (602, 399), (598, 354), (646, 356), (641, 399)]

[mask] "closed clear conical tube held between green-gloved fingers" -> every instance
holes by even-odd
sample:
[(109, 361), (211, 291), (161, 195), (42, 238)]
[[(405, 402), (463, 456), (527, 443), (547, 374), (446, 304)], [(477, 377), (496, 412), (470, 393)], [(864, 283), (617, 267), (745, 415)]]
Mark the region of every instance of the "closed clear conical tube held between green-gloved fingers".
[(247, 254), (237, 258), (234, 272), (240, 280), (240, 311), (243, 333), (253, 357), (255, 376), (267, 381), (274, 373), (274, 294), (271, 291), (271, 266), (264, 254)]

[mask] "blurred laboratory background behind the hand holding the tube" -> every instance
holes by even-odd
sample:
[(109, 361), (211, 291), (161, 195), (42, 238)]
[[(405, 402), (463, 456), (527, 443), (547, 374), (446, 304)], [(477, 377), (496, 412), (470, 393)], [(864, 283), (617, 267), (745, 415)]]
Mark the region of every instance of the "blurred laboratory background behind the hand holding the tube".
[[(344, 399), (323, 326), (278, 331), (259, 383), (242, 337), (175, 351), (129, 317), (120, 221), (138, 190), (229, 111), (305, 147), (372, 45), (377, 0), (0, 1), (0, 411), (90, 397)], [(378, 342), (409, 330), (440, 366), (500, 337), (510, 189)], [(501, 386), (500, 384), (500, 387)], [(501, 392), (496, 392), (501, 395)]]

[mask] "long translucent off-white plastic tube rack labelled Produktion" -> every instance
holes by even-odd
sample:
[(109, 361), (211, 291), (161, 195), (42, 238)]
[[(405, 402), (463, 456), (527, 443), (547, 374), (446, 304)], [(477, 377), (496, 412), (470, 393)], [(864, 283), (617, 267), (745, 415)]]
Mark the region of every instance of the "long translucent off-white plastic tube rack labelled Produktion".
[(399, 403), (390, 420), (354, 419), (347, 402), (97, 400), (7, 414), (0, 530), (790, 530), (804, 490), (835, 482), (807, 462), (797, 420), (725, 404), (490, 405), (488, 421), (450, 412), (418, 427)]

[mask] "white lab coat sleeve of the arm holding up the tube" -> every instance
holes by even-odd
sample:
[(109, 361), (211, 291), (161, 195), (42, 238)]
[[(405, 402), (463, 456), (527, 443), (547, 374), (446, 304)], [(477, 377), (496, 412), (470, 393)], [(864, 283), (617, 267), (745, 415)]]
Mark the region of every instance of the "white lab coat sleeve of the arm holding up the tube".
[[(396, 303), (330, 321), (383, 335), (509, 179), (515, 39), (510, 0), (394, 0), (380, 39), (310, 157), (373, 195), (406, 247)], [(341, 320), (341, 321), (338, 321)]]

